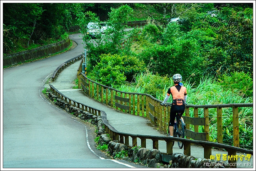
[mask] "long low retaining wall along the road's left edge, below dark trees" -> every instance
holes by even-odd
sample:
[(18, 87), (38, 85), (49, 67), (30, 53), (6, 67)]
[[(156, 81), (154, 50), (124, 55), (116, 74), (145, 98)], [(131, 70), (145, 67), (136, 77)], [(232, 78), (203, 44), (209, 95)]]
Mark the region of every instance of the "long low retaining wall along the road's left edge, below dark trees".
[(18, 63), (23, 63), (25, 61), (47, 57), (53, 53), (60, 52), (69, 46), (70, 46), (70, 39), (67, 38), (66, 40), (63, 40), (54, 44), (41, 46), (32, 50), (27, 50), (27, 51), (6, 55), (3, 57), (3, 66), (7, 67), (11, 65), (16, 65)]

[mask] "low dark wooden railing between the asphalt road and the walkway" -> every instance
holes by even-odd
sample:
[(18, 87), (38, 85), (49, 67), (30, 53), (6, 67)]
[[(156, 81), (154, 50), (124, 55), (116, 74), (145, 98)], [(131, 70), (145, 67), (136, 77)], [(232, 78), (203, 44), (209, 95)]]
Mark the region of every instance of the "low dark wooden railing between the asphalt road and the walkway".
[[(111, 126), (108, 123), (107, 120), (107, 114), (105, 111), (96, 109), (90, 106), (87, 106), (83, 103), (79, 103), (73, 99), (70, 99), (69, 97), (66, 97), (61, 92), (59, 92), (53, 85), (50, 85), (50, 90), (58, 96), (59, 99), (64, 100), (65, 102), (68, 102), (69, 104), (73, 105), (74, 107), (78, 107), (82, 110), (85, 110), (87, 112), (90, 112), (94, 115), (98, 115), (102, 117), (102, 122), (105, 125), (106, 133), (110, 134), (111, 139), (118, 140), (120, 143), (124, 143), (126, 146), (129, 146), (129, 137), (132, 138), (132, 146), (137, 146), (137, 138), (141, 141), (141, 147), (146, 148), (146, 139), (151, 139), (153, 143), (154, 149), (159, 149), (158, 144), (159, 141), (166, 142), (166, 153), (167, 155), (173, 154), (172, 149), (172, 141), (182, 141), (184, 143), (184, 154), (190, 156), (191, 155), (191, 144), (197, 144), (204, 148), (204, 158), (209, 159), (211, 155), (211, 149), (208, 150), (207, 147), (217, 147), (222, 148), (228, 151), (228, 155), (235, 155), (236, 152), (246, 153), (253, 155), (253, 150), (248, 149), (242, 149), (239, 147), (229, 146), (226, 144), (220, 144), (215, 142), (207, 142), (207, 141), (198, 141), (198, 140), (192, 140), (192, 139), (185, 139), (185, 138), (178, 138), (178, 137), (167, 137), (167, 136), (148, 136), (148, 135), (136, 135), (136, 134), (130, 134), (125, 132), (119, 132), (116, 129), (114, 129), (113, 126)], [(230, 160), (229, 162), (234, 162), (233, 160)]]

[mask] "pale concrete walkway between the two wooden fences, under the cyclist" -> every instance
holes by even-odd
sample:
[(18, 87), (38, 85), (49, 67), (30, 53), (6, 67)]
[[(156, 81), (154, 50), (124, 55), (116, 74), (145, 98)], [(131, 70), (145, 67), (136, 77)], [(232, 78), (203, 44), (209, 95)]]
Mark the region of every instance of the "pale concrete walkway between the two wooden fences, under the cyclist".
[[(154, 127), (150, 126), (150, 121), (148, 119), (142, 118), (140, 116), (134, 116), (130, 114), (125, 114), (118, 112), (117, 110), (106, 106), (100, 102), (96, 102), (94, 99), (89, 98), (82, 92), (81, 89), (73, 89), (75, 84), (73, 83), (76, 79), (77, 70), (79, 67), (80, 61), (71, 64), (67, 68), (65, 68), (61, 73), (59, 73), (58, 77), (53, 81), (49, 82), (49, 84), (53, 85), (57, 90), (59, 90), (63, 95), (77, 101), (83, 103), (87, 106), (100, 109), (106, 112), (107, 120), (109, 124), (111, 124), (117, 131), (139, 134), (139, 135), (153, 135), (153, 136), (165, 136), (161, 134)], [(49, 85), (45, 85), (49, 88)], [(129, 145), (132, 146), (132, 138), (129, 139)], [(140, 139), (137, 139), (137, 144), (140, 146)], [(150, 139), (146, 140), (146, 148), (153, 148), (153, 141)], [(159, 150), (162, 153), (166, 153), (166, 143), (165, 141), (159, 141)], [(173, 147), (173, 153), (183, 153), (183, 149), (178, 148), (177, 142)], [(212, 155), (216, 154), (228, 154), (225, 151), (212, 149)], [(238, 155), (240, 153), (237, 153)], [(199, 146), (191, 146), (191, 155), (195, 158), (203, 158), (203, 148)], [(246, 155), (246, 154), (244, 154)], [(216, 157), (215, 157), (216, 158)], [(242, 161), (242, 162), (247, 162)], [(250, 160), (252, 167), (252, 158)]]

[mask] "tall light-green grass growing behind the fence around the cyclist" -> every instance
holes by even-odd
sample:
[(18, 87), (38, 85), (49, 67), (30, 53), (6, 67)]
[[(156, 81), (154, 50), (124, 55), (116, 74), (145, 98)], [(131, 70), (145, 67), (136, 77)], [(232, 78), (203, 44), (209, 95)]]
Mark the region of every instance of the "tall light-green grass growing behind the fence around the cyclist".
[[(118, 88), (120, 91), (146, 93), (145, 85), (150, 82), (152, 73), (141, 73), (135, 76), (132, 84), (122, 85)], [(163, 79), (164, 81), (164, 79)], [(183, 82), (187, 87), (187, 103), (195, 105), (212, 105), (212, 104), (230, 104), (230, 103), (252, 103), (252, 97), (243, 98), (239, 96), (239, 91), (224, 90), (214, 78), (204, 77), (200, 80), (197, 87), (190, 82)], [(167, 89), (173, 86), (172, 84), (165, 84), (161, 91), (156, 92), (156, 98), (163, 100)], [(171, 101), (171, 98), (169, 98)], [(242, 148), (252, 149), (252, 122), (253, 122), (253, 108), (242, 107), (239, 108), (239, 130), (240, 130), (240, 146)], [(223, 108), (223, 143), (230, 144), (233, 142), (233, 113), (232, 108)], [(193, 108), (190, 109), (190, 116), (193, 115)], [(204, 117), (203, 109), (198, 110), (198, 117)], [(217, 109), (209, 108), (209, 128), (210, 141), (217, 141)], [(191, 127), (194, 130), (194, 127)], [(199, 126), (199, 132), (204, 132), (204, 126)]]

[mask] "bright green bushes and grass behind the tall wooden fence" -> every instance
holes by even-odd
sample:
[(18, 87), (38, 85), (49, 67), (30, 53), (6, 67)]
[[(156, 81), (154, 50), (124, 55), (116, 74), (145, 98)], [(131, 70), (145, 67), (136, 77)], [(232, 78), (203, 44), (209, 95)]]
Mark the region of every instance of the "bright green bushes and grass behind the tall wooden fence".
[[(181, 24), (169, 23), (163, 27), (149, 23), (142, 28), (140, 34), (127, 35), (128, 38), (135, 35), (137, 39), (135, 42), (128, 41), (125, 49), (118, 49), (120, 41), (115, 41), (116, 46), (111, 47), (97, 44), (101, 53), (105, 49), (111, 54), (108, 57), (115, 61), (118, 57), (120, 61), (117, 63), (120, 65), (113, 65), (111, 58), (104, 64), (100, 60), (91, 66), (93, 70), (90, 76), (95, 76), (94, 79), (100, 82), (104, 79), (106, 85), (111, 83), (112, 87), (121, 91), (148, 93), (163, 100), (167, 89), (173, 84), (170, 77), (180, 73), (188, 90), (190, 104), (252, 103), (252, 11), (250, 8), (238, 9), (235, 12), (237, 8), (223, 7), (218, 11), (219, 18), (209, 17), (205, 11), (193, 9), (188, 10), (187, 14), (193, 14), (194, 17), (184, 18), (186, 21)], [(229, 25), (226, 25), (227, 19)], [(122, 29), (119, 31), (122, 32)], [(101, 40), (104, 38), (106, 37), (103, 36)], [(121, 35), (116, 38), (121, 40)], [(108, 44), (113, 45), (112, 42)], [(95, 52), (92, 54), (102, 57)], [(121, 62), (123, 59), (120, 58), (124, 56), (132, 56), (145, 63), (146, 69), (134, 72), (137, 74), (132, 82), (123, 75), (124, 72), (118, 73), (124, 67)], [(117, 78), (116, 75), (119, 76), (118, 81), (113, 79)], [(230, 111), (232, 110), (223, 109), (223, 142), (226, 144), (233, 142)], [(216, 141), (215, 111), (209, 109), (209, 113), (210, 140)], [(199, 115), (203, 116), (203, 110), (199, 111)], [(240, 109), (239, 124), (240, 145), (251, 149), (252, 108)], [(199, 132), (204, 132), (202, 126), (199, 128)]]

